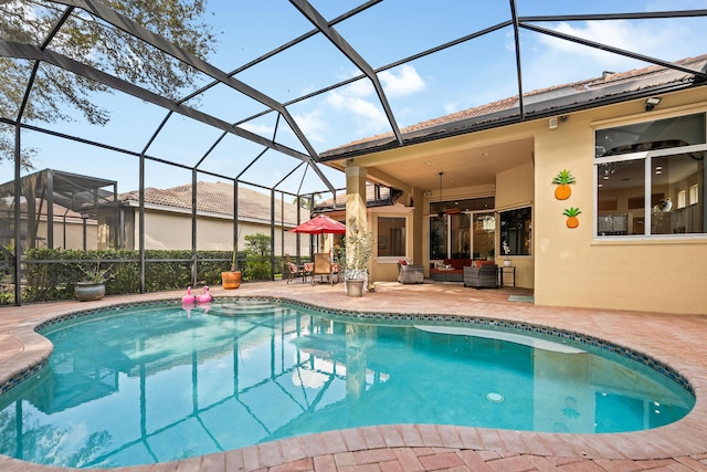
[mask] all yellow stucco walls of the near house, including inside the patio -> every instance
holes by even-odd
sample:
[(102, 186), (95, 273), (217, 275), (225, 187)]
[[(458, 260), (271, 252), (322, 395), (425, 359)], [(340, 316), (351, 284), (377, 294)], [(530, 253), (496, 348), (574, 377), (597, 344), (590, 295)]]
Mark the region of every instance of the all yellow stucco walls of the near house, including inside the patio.
[[(531, 255), (511, 259), (518, 268), (518, 286), (534, 289), (537, 305), (707, 314), (705, 234), (630, 240), (594, 235), (595, 129), (707, 112), (704, 87), (663, 94), (662, 98), (659, 108), (650, 115), (645, 112), (645, 99), (636, 99), (572, 113), (555, 129), (550, 129), (548, 119), (542, 118), (425, 143), (421, 148), (424, 146), (431, 155), (443, 155), (445, 146), (473, 148), (487, 143), (532, 137), (532, 156), (526, 164), (499, 172), (495, 188), (445, 188), (444, 198), (469, 198), (490, 192), (496, 197), (497, 210), (532, 207)], [(411, 158), (420, 156), (419, 150), (405, 148), (371, 154), (356, 159), (356, 164), (374, 165), (387, 159), (401, 161), (402, 153)], [(577, 179), (571, 186), (570, 199), (564, 201), (555, 198), (552, 185), (553, 177), (562, 169), (570, 170)], [(347, 195), (354, 191), (355, 188), (347, 188)], [(436, 199), (435, 192), (431, 191), (423, 207)], [(577, 229), (566, 225), (567, 218), (562, 212), (570, 207), (581, 210)], [(409, 225), (409, 229), (413, 229), (410, 235), (413, 253), (421, 251), (421, 263), (425, 265), (425, 276), (429, 276), (430, 234), (424, 218), (420, 218), (421, 224)], [(499, 248), (495, 253), (496, 262), (502, 264)], [(373, 281), (390, 280), (389, 268), (373, 263), (378, 264), (372, 269)]]

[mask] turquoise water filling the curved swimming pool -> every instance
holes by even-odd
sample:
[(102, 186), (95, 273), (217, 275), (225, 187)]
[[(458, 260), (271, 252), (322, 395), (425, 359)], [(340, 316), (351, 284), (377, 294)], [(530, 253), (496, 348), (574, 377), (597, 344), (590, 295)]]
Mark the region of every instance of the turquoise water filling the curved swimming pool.
[(653, 368), (527, 333), (268, 301), (112, 310), (42, 331), (50, 366), (0, 397), (0, 453), (105, 468), (383, 423), (633, 431), (694, 406)]

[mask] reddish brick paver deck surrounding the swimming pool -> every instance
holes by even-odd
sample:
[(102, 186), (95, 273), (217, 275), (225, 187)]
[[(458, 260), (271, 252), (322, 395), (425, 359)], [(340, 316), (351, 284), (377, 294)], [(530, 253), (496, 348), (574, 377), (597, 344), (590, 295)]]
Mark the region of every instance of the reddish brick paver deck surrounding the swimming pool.
[[(331, 431), (119, 472), (167, 471), (707, 471), (707, 314), (659, 314), (542, 307), (509, 301), (521, 289), (473, 290), (460, 284), (377, 284), (347, 297), (342, 286), (285, 282), (212, 287), (215, 297), (279, 296), (361, 312), (488, 316), (570, 329), (644, 353), (680, 373), (695, 408), (683, 420), (647, 431), (559, 434), (431, 424)], [(61, 314), (127, 302), (179, 300), (182, 292), (112, 296), (0, 308), (0, 385), (46, 358), (51, 344), (34, 326)], [(707, 310), (707, 307), (706, 307)], [(452, 408), (452, 406), (451, 406)], [(0, 455), (0, 471), (57, 472)], [(92, 469), (95, 470), (95, 469)]]

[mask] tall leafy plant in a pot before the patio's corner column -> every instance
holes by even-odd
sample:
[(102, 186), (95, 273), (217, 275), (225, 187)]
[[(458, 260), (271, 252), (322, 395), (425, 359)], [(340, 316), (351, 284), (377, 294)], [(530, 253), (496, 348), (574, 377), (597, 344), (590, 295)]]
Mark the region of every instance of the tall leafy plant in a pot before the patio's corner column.
[(344, 286), (348, 296), (362, 296), (368, 279), (368, 262), (373, 254), (373, 235), (360, 231), (356, 218), (349, 218), (347, 233), (337, 251), (339, 265), (344, 268)]

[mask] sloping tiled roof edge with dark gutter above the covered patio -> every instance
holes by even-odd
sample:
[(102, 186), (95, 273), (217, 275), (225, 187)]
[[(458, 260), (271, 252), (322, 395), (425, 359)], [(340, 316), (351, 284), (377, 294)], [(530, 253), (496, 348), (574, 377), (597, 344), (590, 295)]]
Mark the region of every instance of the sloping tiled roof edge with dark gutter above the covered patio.
[[(682, 90), (689, 85), (705, 85), (707, 54), (674, 63), (683, 69), (699, 71), (701, 75), (651, 65), (626, 72), (604, 72), (601, 77), (588, 78), (523, 94), (526, 119), (576, 112), (609, 103), (627, 101), (656, 93)], [(518, 123), (518, 95), (486, 105), (464, 109), (401, 129), (407, 145), (447, 136)], [(338, 160), (350, 156), (399, 147), (393, 133), (370, 136), (321, 153), (323, 160)]]

